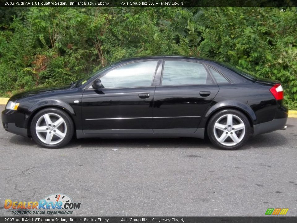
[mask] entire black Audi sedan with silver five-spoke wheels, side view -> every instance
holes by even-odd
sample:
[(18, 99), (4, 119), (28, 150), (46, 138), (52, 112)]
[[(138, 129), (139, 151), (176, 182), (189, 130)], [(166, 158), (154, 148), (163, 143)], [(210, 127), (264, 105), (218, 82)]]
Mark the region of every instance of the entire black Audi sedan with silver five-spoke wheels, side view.
[(4, 128), (48, 148), (76, 138), (209, 137), (237, 149), (286, 125), (278, 81), (183, 56), (118, 61), (68, 86), (12, 96)]

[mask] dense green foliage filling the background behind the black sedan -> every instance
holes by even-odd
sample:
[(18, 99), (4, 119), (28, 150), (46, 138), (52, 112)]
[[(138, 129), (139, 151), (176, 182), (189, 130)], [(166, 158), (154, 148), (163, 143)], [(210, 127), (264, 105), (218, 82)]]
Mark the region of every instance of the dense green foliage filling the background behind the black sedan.
[(68, 84), (126, 57), (179, 54), (282, 81), (297, 109), (295, 8), (5, 8), (0, 34), (3, 96)]

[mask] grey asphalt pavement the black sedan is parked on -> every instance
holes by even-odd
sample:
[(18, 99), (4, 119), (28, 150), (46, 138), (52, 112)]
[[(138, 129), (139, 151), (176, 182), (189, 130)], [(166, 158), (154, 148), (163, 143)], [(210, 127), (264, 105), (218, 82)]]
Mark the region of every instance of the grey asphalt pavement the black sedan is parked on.
[(267, 208), (296, 216), (297, 119), (287, 126), (235, 151), (195, 138), (75, 139), (45, 149), (0, 128), (0, 216), (17, 216), (5, 199), (58, 193), (81, 203), (70, 216), (264, 216)]

